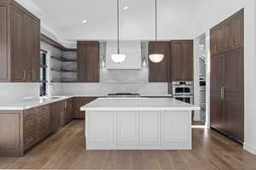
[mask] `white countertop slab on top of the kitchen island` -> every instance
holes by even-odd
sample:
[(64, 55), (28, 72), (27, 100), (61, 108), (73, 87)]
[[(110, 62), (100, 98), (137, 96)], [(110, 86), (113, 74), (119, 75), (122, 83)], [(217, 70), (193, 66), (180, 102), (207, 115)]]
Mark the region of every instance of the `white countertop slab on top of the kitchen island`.
[(100, 98), (81, 111), (199, 111), (200, 107), (172, 98)]

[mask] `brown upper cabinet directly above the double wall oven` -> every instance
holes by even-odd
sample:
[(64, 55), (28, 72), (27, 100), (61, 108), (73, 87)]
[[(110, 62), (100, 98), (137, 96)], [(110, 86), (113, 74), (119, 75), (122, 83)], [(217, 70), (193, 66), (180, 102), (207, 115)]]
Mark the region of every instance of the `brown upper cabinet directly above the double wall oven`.
[(194, 80), (194, 50), (192, 40), (171, 42), (172, 81)]

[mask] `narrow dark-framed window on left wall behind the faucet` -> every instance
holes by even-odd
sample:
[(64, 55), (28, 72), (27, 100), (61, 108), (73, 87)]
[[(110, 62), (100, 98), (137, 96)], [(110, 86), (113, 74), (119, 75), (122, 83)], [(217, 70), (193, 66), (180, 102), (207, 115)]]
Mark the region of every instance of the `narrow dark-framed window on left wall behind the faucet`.
[(47, 64), (46, 64), (46, 53), (41, 52), (41, 68), (40, 68), (40, 96), (45, 96), (47, 94)]

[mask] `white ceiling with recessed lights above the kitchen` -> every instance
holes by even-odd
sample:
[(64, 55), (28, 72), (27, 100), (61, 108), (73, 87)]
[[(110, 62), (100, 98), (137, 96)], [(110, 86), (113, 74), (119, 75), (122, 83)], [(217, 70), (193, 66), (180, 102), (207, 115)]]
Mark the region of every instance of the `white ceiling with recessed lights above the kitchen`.
[[(42, 26), (62, 42), (116, 39), (116, 0), (30, 1)], [(192, 38), (192, 1), (158, 0), (159, 39)], [(124, 10), (125, 6), (129, 9)], [(120, 20), (122, 39), (154, 39), (154, 0), (120, 0)]]

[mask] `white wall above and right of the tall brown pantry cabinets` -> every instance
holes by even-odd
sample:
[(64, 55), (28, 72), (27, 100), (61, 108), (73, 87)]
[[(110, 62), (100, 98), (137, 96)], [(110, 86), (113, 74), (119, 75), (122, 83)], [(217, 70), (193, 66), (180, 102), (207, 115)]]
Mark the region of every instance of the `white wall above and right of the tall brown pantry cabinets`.
[(256, 115), (255, 115), (255, 2), (253, 0), (194, 0), (194, 37), (209, 31), (212, 26), (245, 8), (245, 144), (247, 150), (256, 154)]

